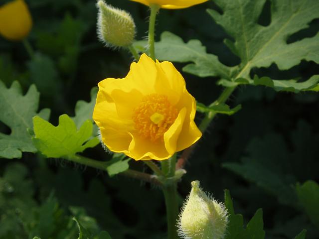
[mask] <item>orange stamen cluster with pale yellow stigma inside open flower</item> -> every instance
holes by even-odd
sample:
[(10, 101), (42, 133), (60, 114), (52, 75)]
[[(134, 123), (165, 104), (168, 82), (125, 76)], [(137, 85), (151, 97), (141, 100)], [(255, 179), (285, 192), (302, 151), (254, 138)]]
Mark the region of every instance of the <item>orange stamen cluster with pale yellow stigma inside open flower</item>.
[(170, 105), (166, 95), (151, 94), (142, 98), (140, 105), (134, 109), (132, 119), (143, 139), (159, 143), (159, 140), (164, 141), (164, 133), (177, 116), (177, 109)]

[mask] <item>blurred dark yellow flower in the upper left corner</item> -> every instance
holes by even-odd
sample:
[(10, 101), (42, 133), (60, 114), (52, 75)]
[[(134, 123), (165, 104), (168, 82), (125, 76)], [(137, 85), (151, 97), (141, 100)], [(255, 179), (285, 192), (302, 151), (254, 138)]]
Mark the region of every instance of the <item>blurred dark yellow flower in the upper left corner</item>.
[(0, 7), (0, 34), (7, 40), (19, 41), (32, 28), (32, 17), (23, 0), (13, 0)]

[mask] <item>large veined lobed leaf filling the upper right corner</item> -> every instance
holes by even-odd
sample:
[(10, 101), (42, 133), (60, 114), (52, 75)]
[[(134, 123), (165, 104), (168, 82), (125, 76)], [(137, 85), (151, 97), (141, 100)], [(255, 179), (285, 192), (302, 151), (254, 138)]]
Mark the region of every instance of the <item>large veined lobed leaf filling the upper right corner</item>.
[(287, 44), (290, 35), (309, 27), (319, 17), (318, 0), (273, 0), (271, 23), (259, 25), (258, 18), (266, 0), (214, 0), (223, 10), (209, 14), (235, 39), (225, 43), (237, 54), (240, 68), (269, 67), (276, 63), (281, 70), (298, 65), (302, 59), (319, 63), (319, 34)]

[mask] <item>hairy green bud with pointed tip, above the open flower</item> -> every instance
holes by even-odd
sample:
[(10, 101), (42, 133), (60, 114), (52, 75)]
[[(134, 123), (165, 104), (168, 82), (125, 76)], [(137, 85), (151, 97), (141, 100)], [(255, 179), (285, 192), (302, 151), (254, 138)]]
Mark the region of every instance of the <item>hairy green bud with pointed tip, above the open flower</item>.
[(108, 5), (103, 0), (98, 1), (97, 7), (97, 32), (100, 41), (113, 48), (130, 46), (136, 33), (131, 14)]

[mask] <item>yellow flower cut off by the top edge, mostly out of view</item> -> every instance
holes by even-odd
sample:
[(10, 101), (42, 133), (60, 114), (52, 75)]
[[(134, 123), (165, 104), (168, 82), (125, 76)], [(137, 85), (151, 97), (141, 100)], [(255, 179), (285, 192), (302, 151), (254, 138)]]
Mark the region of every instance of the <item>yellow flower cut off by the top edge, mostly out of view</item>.
[(161, 8), (169, 8), (169, 9), (176, 9), (176, 8), (186, 8), (192, 5), (196, 5), (207, 0), (132, 0), (138, 1), (145, 5), (150, 5), (150, 3), (159, 4)]

